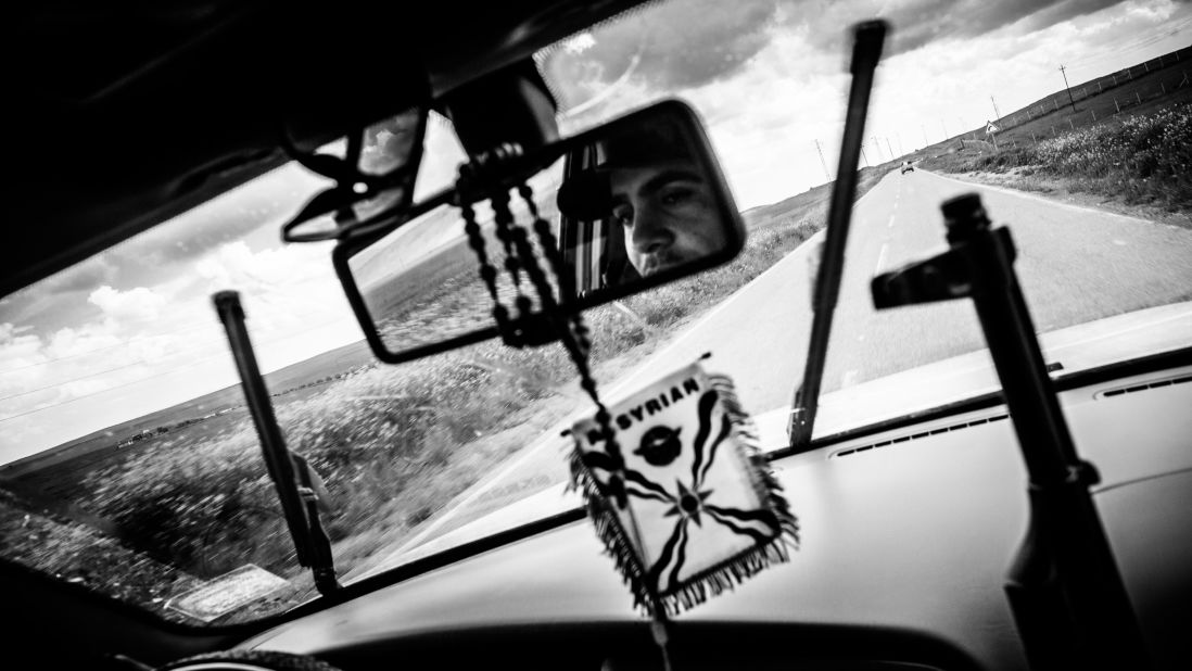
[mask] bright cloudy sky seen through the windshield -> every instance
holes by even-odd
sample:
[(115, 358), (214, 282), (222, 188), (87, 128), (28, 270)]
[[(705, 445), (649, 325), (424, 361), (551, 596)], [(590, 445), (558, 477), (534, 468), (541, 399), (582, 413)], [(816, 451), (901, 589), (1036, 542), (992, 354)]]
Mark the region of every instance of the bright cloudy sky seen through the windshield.
[[(983, 126), (991, 95), (1008, 114), (1060, 89), (1061, 64), (1076, 83), (1192, 43), (1187, 0), (691, 0), (538, 61), (565, 135), (660, 98), (691, 104), (744, 210), (834, 173), (849, 30), (875, 17), (892, 33), (867, 123), (874, 161)], [(461, 160), (448, 123), (433, 119), (426, 153), (416, 198)], [(215, 291), (241, 292), (265, 371), (360, 340), (331, 246), (279, 240), (324, 185), (284, 167), (0, 298), (0, 464), (236, 384)]]

